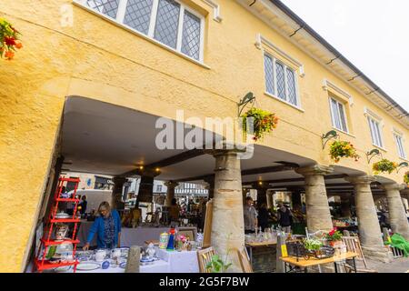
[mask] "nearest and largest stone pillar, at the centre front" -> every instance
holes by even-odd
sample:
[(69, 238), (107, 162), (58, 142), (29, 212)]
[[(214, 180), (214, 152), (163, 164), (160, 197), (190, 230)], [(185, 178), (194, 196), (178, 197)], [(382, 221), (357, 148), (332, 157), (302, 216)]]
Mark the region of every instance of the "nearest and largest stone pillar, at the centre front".
[(214, 151), (214, 199), (211, 245), (220, 256), (229, 252), (228, 272), (241, 272), (237, 250), (244, 247), (244, 213), (240, 159), (231, 151)]

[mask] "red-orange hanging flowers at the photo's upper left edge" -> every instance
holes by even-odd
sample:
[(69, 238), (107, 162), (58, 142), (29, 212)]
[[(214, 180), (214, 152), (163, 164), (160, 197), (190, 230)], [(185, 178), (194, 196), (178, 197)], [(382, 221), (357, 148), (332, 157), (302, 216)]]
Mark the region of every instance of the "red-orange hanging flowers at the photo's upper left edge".
[(15, 50), (23, 47), (19, 35), (9, 22), (0, 17), (0, 58), (11, 60), (15, 56)]

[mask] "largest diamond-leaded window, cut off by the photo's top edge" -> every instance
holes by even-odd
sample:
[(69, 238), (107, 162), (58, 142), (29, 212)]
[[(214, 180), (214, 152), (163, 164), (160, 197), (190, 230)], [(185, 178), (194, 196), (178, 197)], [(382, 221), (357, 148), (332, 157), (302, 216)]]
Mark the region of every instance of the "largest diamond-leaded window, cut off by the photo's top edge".
[(175, 0), (78, 0), (82, 5), (203, 62), (204, 17)]

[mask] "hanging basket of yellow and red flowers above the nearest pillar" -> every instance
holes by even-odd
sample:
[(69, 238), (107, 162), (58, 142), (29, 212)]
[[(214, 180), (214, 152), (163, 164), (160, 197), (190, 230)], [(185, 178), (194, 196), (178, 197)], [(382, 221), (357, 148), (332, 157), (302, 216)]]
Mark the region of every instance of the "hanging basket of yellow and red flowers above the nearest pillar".
[(243, 117), (243, 130), (245, 134), (248, 134), (247, 118), (254, 118), (254, 141), (263, 138), (265, 134), (271, 133), (278, 123), (278, 117), (274, 113), (258, 108), (251, 108), (241, 117)]

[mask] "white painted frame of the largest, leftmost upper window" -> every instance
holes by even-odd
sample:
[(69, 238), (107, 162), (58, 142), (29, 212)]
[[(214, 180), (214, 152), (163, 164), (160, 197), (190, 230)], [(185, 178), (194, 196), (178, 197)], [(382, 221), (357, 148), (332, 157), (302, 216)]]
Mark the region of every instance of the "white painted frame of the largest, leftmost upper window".
[[(76, 5), (81, 6), (82, 8), (85, 8), (87, 11), (90, 11), (94, 13), (95, 15), (99, 15), (106, 20), (115, 23), (115, 25), (119, 25), (121, 27), (126, 28), (127, 30), (130, 30), (131, 32), (135, 33), (136, 35), (140, 35), (144, 37), (145, 39), (150, 40), (151, 42), (154, 42), (157, 45), (165, 47), (167, 50), (175, 52), (178, 55), (182, 55), (187, 59), (190, 59), (194, 61), (195, 63), (199, 63), (200, 65), (204, 65), (204, 55), (205, 55), (205, 16), (199, 14), (196, 12), (194, 9), (190, 8), (189, 6), (185, 5), (183, 2), (179, 0), (174, 0), (176, 3), (180, 5), (180, 15), (182, 17), (179, 17), (179, 25), (178, 25), (178, 34), (177, 34), (177, 42), (176, 42), (176, 49), (172, 46), (165, 45), (164, 43), (161, 43), (160, 41), (156, 40), (154, 38), (155, 34), (155, 25), (156, 25), (156, 15), (157, 15), (157, 10), (158, 10), (158, 5), (159, 5), (159, 0), (153, 0), (153, 8), (152, 8), (152, 15), (150, 17), (150, 24), (149, 24), (149, 29), (147, 35), (137, 31), (136, 29), (132, 28), (131, 26), (125, 25), (124, 24), (124, 19), (125, 19), (125, 13), (126, 13), (126, 6), (128, 0), (119, 0), (119, 5), (118, 5), (118, 11), (116, 13), (116, 18), (111, 18), (91, 7), (86, 5), (87, 0), (73, 0), (73, 3)], [(194, 57), (191, 57), (190, 55), (185, 55), (182, 53), (182, 32), (183, 32), (183, 23), (184, 23), (184, 17), (185, 17), (185, 10), (188, 12), (192, 13), (193, 15), (197, 16), (200, 19), (200, 54), (199, 54), (199, 59), (195, 59)], [(206, 66), (207, 67), (207, 66)], [(207, 67), (208, 68), (208, 67)]]

